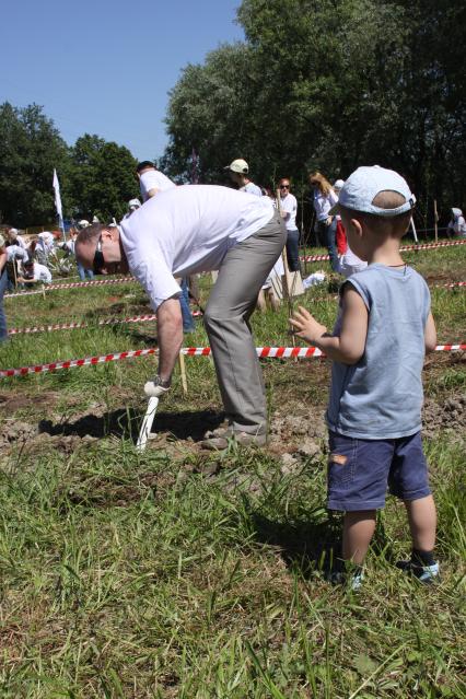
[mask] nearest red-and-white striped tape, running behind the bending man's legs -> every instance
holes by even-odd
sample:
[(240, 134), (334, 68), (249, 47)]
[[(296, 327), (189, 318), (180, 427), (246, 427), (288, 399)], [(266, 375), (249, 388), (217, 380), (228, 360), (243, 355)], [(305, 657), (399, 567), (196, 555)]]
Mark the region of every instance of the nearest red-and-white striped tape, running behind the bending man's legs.
[[(466, 342), (462, 345), (438, 345), (438, 352), (466, 351)], [(105, 364), (107, 362), (116, 362), (120, 359), (135, 359), (138, 357), (148, 357), (158, 353), (156, 348), (128, 350), (127, 352), (112, 352), (102, 357), (86, 357), (84, 359), (71, 359), (65, 362), (49, 362), (47, 364), (35, 364), (33, 366), (21, 366), (19, 369), (1, 369), (0, 378), (10, 376), (26, 376), (28, 374), (42, 374), (48, 371), (58, 371), (60, 369), (74, 369), (75, 366), (91, 366), (95, 364)], [(325, 357), (324, 352), (316, 347), (256, 347), (257, 357), (266, 358), (289, 358), (289, 357)], [(184, 347), (182, 353), (188, 357), (208, 357), (210, 347)]]

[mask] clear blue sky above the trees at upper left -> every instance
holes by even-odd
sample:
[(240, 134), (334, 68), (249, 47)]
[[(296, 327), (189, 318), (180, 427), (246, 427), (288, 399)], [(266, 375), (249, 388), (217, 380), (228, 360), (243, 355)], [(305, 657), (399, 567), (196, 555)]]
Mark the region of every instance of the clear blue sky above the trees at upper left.
[(187, 63), (243, 38), (241, 0), (23, 0), (2, 4), (0, 103), (44, 106), (67, 142), (83, 133), (161, 155), (167, 92)]

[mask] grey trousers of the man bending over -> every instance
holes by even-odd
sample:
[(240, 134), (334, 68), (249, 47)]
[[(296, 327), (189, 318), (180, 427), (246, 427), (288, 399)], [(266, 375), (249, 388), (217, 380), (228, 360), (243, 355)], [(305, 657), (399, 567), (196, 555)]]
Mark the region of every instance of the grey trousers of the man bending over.
[(275, 213), (257, 233), (232, 247), (222, 261), (203, 316), (226, 418), (234, 431), (267, 431), (263, 372), (249, 317), (286, 240), (287, 229)]

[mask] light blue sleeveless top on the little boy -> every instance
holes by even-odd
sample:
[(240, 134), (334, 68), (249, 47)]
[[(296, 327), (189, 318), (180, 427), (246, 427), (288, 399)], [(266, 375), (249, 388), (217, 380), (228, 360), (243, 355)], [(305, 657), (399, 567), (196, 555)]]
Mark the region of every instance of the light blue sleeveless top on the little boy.
[[(410, 267), (372, 264), (351, 283), (369, 312), (364, 353), (352, 366), (333, 363), (327, 424), (359, 439), (409, 436), (421, 429), (426, 281)], [(341, 327), (338, 316), (334, 335)]]

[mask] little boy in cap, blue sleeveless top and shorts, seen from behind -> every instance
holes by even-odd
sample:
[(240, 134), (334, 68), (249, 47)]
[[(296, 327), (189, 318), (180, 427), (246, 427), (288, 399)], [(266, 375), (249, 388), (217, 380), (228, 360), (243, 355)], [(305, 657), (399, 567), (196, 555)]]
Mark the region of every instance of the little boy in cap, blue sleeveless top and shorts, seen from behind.
[(331, 334), (303, 307), (291, 319), (299, 337), (333, 360), (328, 508), (345, 512), (345, 566), (334, 579), (354, 590), (387, 485), (405, 502), (412, 538), (410, 560), (397, 567), (424, 583), (439, 575), (435, 505), (420, 434), (421, 371), (436, 333), (428, 286), (398, 252), (415, 201), (397, 173), (359, 167), (333, 213), (341, 214), (351, 249), (369, 266), (343, 282)]

